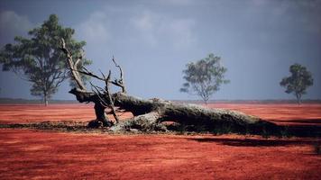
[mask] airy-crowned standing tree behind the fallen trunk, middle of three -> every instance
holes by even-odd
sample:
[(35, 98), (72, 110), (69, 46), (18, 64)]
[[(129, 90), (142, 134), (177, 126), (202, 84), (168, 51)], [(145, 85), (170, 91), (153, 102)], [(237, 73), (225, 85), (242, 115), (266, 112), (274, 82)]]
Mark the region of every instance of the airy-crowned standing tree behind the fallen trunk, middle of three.
[(220, 85), (230, 81), (225, 79), (227, 68), (220, 63), (221, 58), (209, 54), (207, 58), (190, 62), (183, 70), (183, 78), (187, 81), (180, 92), (197, 94), (207, 104), (210, 96), (219, 90)]

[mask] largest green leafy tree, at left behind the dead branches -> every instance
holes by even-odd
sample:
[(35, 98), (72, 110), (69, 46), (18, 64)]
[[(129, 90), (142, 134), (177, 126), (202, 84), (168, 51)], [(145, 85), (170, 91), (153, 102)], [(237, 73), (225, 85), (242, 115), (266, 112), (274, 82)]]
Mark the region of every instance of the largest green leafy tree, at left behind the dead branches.
[[(72, 49), (74, 57), (81, 55), (85, 41), (72, 39), (73, 29), (63, 28), (58, 16), (51, 14), (49, 20), (29, 31), (30, 39), (17, 36), (15, 44), (6, 44), (0, 51), (0, 63), (4, 71), (13, 71), (18, 76), (32, 83), (31, 94), (41, 96), (44, 104), (48, 104), (66, 78), (69, 77), (67, 57), (60, 50), (61, 38)], [(84, 59), (78, 67), (91, 64)], [(87, 77), (82, 76), (84, 79)]]

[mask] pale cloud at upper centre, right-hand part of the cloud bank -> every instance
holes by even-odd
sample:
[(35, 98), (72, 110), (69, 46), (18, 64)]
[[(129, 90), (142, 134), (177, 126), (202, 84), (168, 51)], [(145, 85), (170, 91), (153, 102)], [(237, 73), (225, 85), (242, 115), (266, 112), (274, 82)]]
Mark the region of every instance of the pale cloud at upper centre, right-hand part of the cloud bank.
[(142, 14), (134, 16), (131, 23), (140, 32), (142, 40), (151, 45), (164, 42), (181, 49), (190, 47), (197, 41), (193, 33), (195, 21), (192, 19), (143, 11)]

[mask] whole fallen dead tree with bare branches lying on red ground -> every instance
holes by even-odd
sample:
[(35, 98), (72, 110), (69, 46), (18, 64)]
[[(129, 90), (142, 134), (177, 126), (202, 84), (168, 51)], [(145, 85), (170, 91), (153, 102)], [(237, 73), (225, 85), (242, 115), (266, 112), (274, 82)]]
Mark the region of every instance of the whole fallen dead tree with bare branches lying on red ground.
[[(96, 121), (89, 122), (89, 126), (102, 124), (109, 130), (166, 130), (161, 122), (173, 121), (189, 127), (190, 130), (228, 130), (237, 132), (260, 133), (262, 130), (275, 131), (279, 127), (269, 121), (263, 121), (258, 117), (222, 109), (209, 109), (196, 104), (174, 103), (161, 99), (141, 99), (127, 94), (124, 85), (124, 72), (113, 57), (115, 67), (120, 71), (120, 78), (111, 80), (111, 71), (105, 76), (97, 76), (86, 68), (78, 69), (77, 64), (82, 57), (74, 60), (71, 52), (62, 40), (61, 50), (67, 55), (71, 76), (78, 87), (69, 91), (74, 94), (79, 103), (95, 103)], [(94, 77), (105, 82), (105, 87), (91, 85), (87, 90), (81, 81), (79, 74)], [(121, 91), (113, 94), (110, 85), (116, 85)], [(105, 116), (105, 109), (110, 110), (115, 121), (110, 121)], [(119, 121), (116, 111), (132, 112), (133, 118), (127, 121)]]

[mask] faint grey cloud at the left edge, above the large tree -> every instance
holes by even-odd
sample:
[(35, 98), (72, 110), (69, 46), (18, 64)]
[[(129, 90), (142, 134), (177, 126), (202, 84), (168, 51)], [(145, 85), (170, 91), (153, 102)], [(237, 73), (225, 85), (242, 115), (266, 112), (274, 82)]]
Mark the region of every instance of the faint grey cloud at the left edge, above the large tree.
[(26, 35), (32, 29), (28, 17), (16, 14), (13, 11), (0, 12), (1, 43), (14, 40), (14, 36)]

